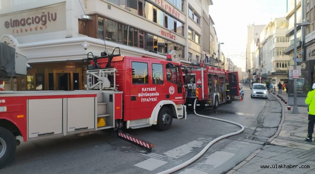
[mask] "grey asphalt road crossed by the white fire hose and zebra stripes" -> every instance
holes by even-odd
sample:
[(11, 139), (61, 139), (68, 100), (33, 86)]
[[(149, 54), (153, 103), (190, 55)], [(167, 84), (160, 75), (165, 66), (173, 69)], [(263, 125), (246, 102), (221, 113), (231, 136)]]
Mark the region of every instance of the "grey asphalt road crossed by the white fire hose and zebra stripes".
[[(212, 145), (206, 153), (177, 174), (221, 174), (246, 159), (277, 130), (281, 107), (276, 99), (245, 98), (222, 104), (217, 110), (201, 114), (242, 124), (245, 131)], [(0, 174), (156, 174), (179, 165), (198, 154), (215, 138), (240, 130), (231, 123), (195, 116), (173, 119), (168, 131), (153, 127), (128, 130), (127, 133), (154, 144), (152, 152), (116, 137), (114, 131), (92, 135), (69, 135), (21, 143), (15, 160)]]

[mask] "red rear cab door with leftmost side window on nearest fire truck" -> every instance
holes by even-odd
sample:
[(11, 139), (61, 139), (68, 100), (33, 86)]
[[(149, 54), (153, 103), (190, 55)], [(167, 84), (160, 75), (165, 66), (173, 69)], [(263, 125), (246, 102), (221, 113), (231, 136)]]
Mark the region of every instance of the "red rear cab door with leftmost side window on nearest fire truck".
[(153, 94), (157, 92), (149, 82), (149, 63), (132, 59), (129, 63), (132, 68), (132, 74), (127, 74), (131, 77), (130, 98), (126, 98), (129, 101), (125, 104), (128, 105), (126, 109), (129, 108), (130, 110), (126, 111), (124, 120), (148, 118), (151, 116), (150, 107), (153, 102), (156, 102), (156, 97)]

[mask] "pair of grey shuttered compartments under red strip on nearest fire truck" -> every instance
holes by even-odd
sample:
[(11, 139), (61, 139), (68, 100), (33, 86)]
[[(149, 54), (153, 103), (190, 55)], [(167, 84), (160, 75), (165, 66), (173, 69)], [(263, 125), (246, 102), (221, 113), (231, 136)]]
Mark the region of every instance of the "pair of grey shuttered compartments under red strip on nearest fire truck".
[[(96, 126), (96, 93), (27, 91), (28, 138), (93, 131)], [(66, 130), (66, 131), (64, 131)]]

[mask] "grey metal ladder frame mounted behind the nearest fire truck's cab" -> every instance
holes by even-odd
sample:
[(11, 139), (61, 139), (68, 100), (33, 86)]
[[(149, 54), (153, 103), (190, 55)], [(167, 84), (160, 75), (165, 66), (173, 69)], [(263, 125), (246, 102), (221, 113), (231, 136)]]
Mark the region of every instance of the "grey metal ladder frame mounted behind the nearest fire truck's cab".
[[(114, 55), (115, 49), (118, 48), (119, 54)], [(89, 57), (89, 55), (92, 56)], [(101, 53), (100, 57), (95, 57), (92, 52), (87, 53), (87, 58), (83, 59), (83, 63), (86, 62), (87, 65), (83, 66), (83, 75), (85, 75), (85, 84), (86, 89), (99, 89), (99, 90), (116, 90), (116, 72), (117, 70), (113, 67), (110, 67), (111, 59), (120, 56), (120, 48), (115, 47), (110, 55), (107, 55), (105, 52)], [(108, 58), (107, 65), (105, 68), (100, 68), (97, 59)], [(91, 64), (93, 60), (94, 65)], [(86, 67), (86, 70), (84, 68)]]

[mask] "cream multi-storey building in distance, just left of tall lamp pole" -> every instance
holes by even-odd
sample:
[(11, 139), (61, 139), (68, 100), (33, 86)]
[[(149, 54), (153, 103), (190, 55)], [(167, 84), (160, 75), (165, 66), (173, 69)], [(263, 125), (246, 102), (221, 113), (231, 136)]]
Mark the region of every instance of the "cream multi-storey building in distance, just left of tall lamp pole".
[(285, 36), (288, 23), (285, 17), (275, 18), (260, 33), (257, 69), (262, 78), (273, 86), (288, 80), (290, 57), (284, 54), (289, 46), (289, 38)]

